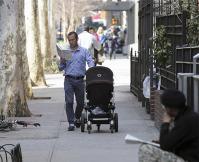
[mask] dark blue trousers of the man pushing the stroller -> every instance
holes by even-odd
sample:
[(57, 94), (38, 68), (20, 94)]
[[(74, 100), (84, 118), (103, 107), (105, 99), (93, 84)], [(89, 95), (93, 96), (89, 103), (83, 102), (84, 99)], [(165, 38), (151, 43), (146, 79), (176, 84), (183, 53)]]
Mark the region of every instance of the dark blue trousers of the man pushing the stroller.
[[(65, 78), (65, 108), (69, 124), (73, 124), (75, 119), (79, 119), (81, 117), (81, 113), (84, 108), (84, 87), (83, 79)], [(74, 96), (77, 103), (75, 111), (73, 109)]]

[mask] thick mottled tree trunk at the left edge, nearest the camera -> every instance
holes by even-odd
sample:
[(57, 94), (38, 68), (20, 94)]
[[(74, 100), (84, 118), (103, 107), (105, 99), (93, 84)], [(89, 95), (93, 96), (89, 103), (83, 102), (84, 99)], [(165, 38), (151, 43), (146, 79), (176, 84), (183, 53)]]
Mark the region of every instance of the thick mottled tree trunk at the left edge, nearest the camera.
[[(23, 80), (28, 67), (24, 0), (0, 1), (0, 109), (7, 116), (30, 116)], [(3, 16), (2, 16), (3, 15)], [(27, 68), (28, 69), (28, 68)]]

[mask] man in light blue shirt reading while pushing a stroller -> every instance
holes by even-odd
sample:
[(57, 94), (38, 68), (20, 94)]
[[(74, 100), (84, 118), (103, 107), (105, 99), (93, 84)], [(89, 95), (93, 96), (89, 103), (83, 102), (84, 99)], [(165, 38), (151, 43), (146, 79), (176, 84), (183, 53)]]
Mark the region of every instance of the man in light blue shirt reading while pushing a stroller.
[[(84, 76), (86, 72), (86, 63), (89, 67), (94, 66), (94, 61), (90, 52), (78, 46), (78, 35), (76, 32), (70, 32), (67, 35), (69, 42), (69, 52), (71, 59), (61, 58), (59, 69), (64, 70), (64, 91), (66, 102), (66, 115), (69, 122), (68, 131), (73, 131), (80, 127), (80, 117), (84, 107)], [(73, 110), (74, 95), (76, 98), (76, 109)]]

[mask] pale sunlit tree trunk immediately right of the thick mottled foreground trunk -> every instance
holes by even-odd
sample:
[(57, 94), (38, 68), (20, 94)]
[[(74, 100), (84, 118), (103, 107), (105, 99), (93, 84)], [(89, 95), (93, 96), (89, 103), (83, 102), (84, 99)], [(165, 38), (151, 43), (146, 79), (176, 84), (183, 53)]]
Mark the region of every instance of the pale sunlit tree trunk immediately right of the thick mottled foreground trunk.
[(25, 1), (28, 64), (32, 85), (46, 85), (41, 55), (38, 0)]

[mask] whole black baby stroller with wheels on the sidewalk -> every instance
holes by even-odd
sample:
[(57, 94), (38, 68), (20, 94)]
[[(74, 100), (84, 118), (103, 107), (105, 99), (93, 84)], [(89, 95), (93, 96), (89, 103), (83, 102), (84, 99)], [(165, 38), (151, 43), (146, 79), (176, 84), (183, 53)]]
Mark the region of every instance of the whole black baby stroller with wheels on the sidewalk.
[(104, 66), (96, 66), (86, 72), (87, 103), (81, 116), (81, 132), (85, 126), (90, 134), (92, 124), (100, 131), (101, 124), (110, 124), (111, 133), (118, 132), (118, 114), (114, 112), (113, 72)]

